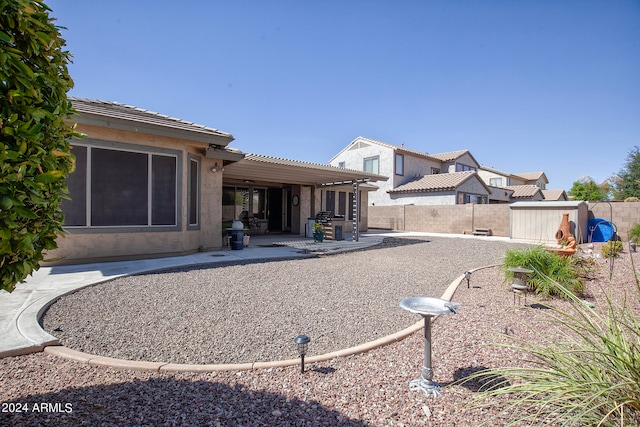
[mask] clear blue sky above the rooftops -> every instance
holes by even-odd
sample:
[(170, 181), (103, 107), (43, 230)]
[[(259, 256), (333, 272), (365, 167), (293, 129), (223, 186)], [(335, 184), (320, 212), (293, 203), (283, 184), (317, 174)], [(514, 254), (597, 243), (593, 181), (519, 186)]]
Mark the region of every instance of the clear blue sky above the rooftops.
[(468, 149), (549, 188), (640, 145), (639, 1), (49, 0), (70, 95), (328, 162), (357, 136)]

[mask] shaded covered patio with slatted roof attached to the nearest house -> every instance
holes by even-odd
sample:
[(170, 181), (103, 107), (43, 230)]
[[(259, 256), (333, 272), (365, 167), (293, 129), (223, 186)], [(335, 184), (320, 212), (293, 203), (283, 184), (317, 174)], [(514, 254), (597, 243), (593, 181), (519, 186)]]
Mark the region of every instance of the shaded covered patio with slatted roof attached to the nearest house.
[(377, 189), (372, 183), (386, 180), (363, 171), (246, 154), (223, 171), (223, 227), (241, 220), (252, 235), (305, 236), (322, 212), (345, 224), (345, 238), (357, 240), (368, 229), (367, 192)]

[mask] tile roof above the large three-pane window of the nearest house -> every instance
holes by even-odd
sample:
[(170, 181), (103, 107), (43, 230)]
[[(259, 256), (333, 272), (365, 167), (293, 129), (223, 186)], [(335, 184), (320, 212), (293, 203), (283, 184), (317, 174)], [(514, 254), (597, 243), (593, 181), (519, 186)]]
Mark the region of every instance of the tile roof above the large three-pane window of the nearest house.
[(198, 133), (205, 136), (211, 135), (228, 138), (229, 141), (233, 140), (233, 136), (230, 133), (131, 105), (120, 104), (113, 101), (76, 97), (69, 97), (69, 100), (71, 101), (73, 108), (75, 108), (80, 115), (101, 116), (109, 119), (119, 119), (127, 122), (138, 123), (141, 125), (158, 126), (172, 130)]

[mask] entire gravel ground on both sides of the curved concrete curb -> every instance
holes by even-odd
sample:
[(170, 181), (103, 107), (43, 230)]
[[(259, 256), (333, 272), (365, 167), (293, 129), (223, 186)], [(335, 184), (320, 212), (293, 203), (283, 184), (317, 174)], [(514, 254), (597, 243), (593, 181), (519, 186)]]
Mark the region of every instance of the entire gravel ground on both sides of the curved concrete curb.
[[(387, 242), (384, 246), (308, 260), (118, 279), (63, 298), (45, 316), (45, 325), (48, 330), (59, 327), (65, 334), (84, 328), (83, 333), (75, 335), (54, 332), (72, 348), (79, 349), (82, 345), (87, 346), (83, 347), (85, 351), (101, 355), (108, 355), (107, 351), (115, 352), (111, 355), (123, 352), (117, 357), (126, 354), (145, 360), (222, 362), (253, 357), (290, 358), (295, 356), (292, 338), (302, 332), (312, 337), (312, 353), (318, 354), (412, 324), (419, 317), (398, 307), (402, 298), (440, 296), (462, 272), (499, 262), (505, 248), (514, 245), (481, 239), (434, 238), (428, 242)], [(638, 262), (636, 256), (634, 260)], [(610, 286), (608, 262), (603, 259), (596, 262), (598, 268), (587, 283), (585, 299), (598, 308), (603, 291), (619, 297), (632, 286), (633, 270), (629, 254), (623, 253), (615, 261), (614, 285)], [(248, 291), (229, 293), (229, 286), (224, 285), (230, 283), (232, 272), (244, 275), (242, 284)], [(265, 279), (267, 272), (277, 280)], [(322, 275), (316, 278), (317, 274)], [(199, 374), (119, 371), (38, 353), (0, 360), (0, 425), (476, 426), (502, 403), (495, 402), (491, 410), (470, 410), (467, 404), (477, 396), (474, 387), (450, 384), (478, 369), (514, 365), (520, 360), (518, 354), (486, 344), (501, 342), (507, 336), (548, 340), (562, 333), (549, 328), (545, 321), (548, 310), (536, 308), (539, 306), (535, 300), (529, 298), (527, 307), (514, 306), (513, 296), (502, 279), (496, 268), (475, 272), (471, 288), (461, 285), (453, 298), (462, 303), (459, 314), (442, 316), (434, 322), (434, 379), (445, 386), (443, 395), (437, 399), (408, 389), (408, 382), (420, 375), (423, 357), (420, 332), (365, 354), (309, 365), (305, 374), (300, 374), (298, 367)], [(341, 282), (351, 286), (346, 291), (336, 289)], [(197, 291), (200, 289), (197, 286), (203, 292)], [(155, 292), (149, 292), (149, 288)], [(179, 297), (190, 292), (198, 297)], [(260, 292), (263, 295), (255, 297)], [(339, 300), (330, 305), (327, 294), (338, 296)], [(247, 302), (244, 300), (247, 296), (255, 298)], [(201, 303), (201, 299), (207, 302)], [(378, 299), (384, 302), (379, 303)], [(638, 309), (637, 299), (632, 299)], [(199, 306), (200, 312), (190, 311), (188, 305), (183, 305), (185, 300)], [(224, 314), (214, 317), (207, 310), (211, 301), (226, 301)], [(159, 306), (167, 305), (163, 302), (170, 303), (172, 310), (162, 311), (161, 317), (149, 317), (154, 309), (158, 311)], [(233, 306), (239, 303), (243, 309), (234, 310)], [(566, 304), (557, 300), (546, 303), (559, 308)], [(295, 304), (289, 311), (287, 306)], [(61, 308), (63, 305), (68, 306)], [(72, 322), (67, 317), (72, 309), (113, 320), (105, 321), (103, 329), (99, 325), (76, 324), (87, 322), (91, 316), (78, 315)], [(247, 311), (252, 315), (244, 317), (242, 313)], [(325, 316), (325, 311), (330, 311), (329, 315)], [(305, 317), (306, 312), (309, 315)], [(272, 323), (268, 313), (274, 318), (284, 318)], [(231, 316), (239, 317), (229, 319)], [(185, 332), (183, 328), (194, 323), (193, 319), (204, 325), (217, 319), (222, 326), (207, 329), (206, 333), (196, 329)], [(234, 325), (240, 324), (240, 319), (248, 319), (250, 325), (246, 330), (250, 339), (237, 332)], [(257, 332), (261, 323), (268, 325)], [(131, 325), (146, 327), (139, 328), (137, 335), (129, 335), (131, 332), (121, 325), (129, 325), (130, 329)], [(224, 333), (214, 332), (223, 326)], [(168, 335), (153, 333), (159, 327)], [(275, 334), (286, 327), (290, 330)], [(252, 350), (248, 343), (261, 339), (258, 335), (269, 330), (274, 335), (260, 343), (281, 339), (283, 344)], [(151, 336), (144, 337), (145, 332)], [(353, 336), (362, 339), (354, 342), (350, 338)], [(72, 341), (75, 339), (78, 341)], [(144, 350), (135, 348), (136, 339), (141, 340)], [(236, 339), (243, 341), (243, 345), (236, 346)], [(179, 345), (164, 350), (154, 348), (155, 343), (173, 340), (180, 341)], [(97, 347), (92, 349), (92, 345)], [(118, 345), (120, 349), (116, 348)], [(227, 356), (209, 351), (219, 345), (228, 346)], [(199, 346), (206, 349), (200, 355)], [(230, 356), (231, 353), (234, 355)], [(202, 359), (194, 359), (198, 357)], [(490, 425), (501, 422), (495, 420)]]

